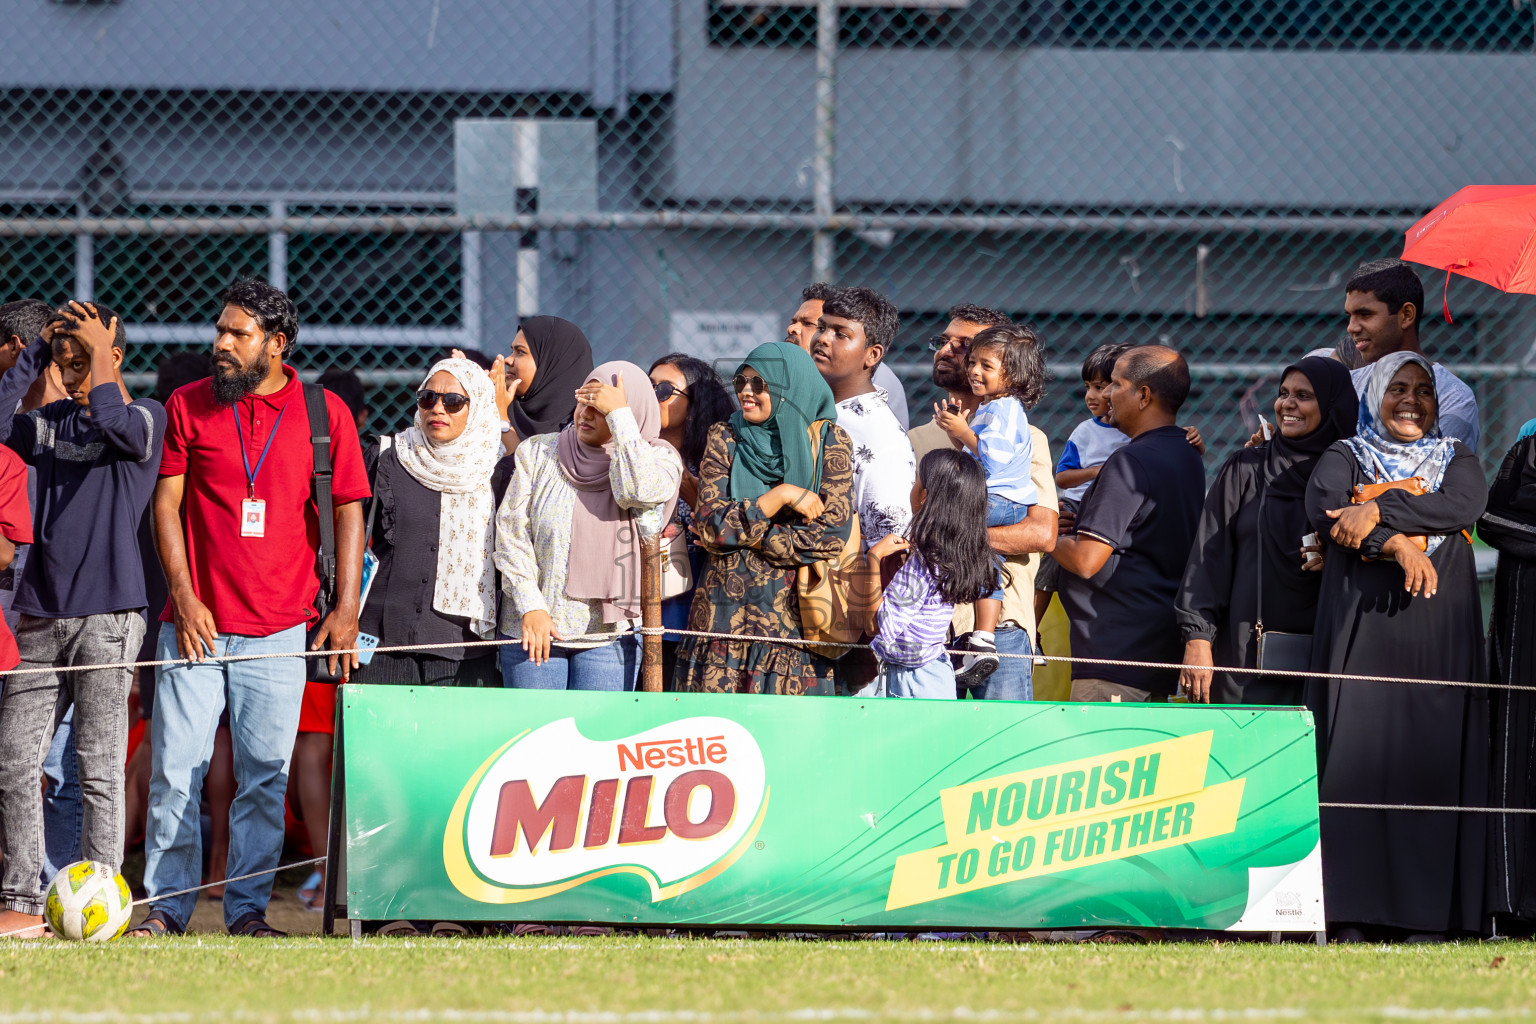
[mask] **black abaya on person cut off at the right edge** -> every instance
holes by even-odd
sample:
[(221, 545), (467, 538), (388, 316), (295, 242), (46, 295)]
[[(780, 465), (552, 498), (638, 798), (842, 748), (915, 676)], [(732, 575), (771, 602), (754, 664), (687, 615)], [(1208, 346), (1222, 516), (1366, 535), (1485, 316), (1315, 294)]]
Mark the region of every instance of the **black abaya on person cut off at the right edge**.
[[(1490, 682), (1536, 686), (1536, 560), (1530, 557), (1536, 553), (1530, 539), (1521, 537), (1536, 533), (1521, 530), (1522, 524), (1536, 524), (1536, 438), (1510, 448), (1488, 496), (1488, 514), (1513, 524), (1499, 534), (1479, 528), (1482, 539), (1499, 548), (1488, 625)], [(1493, 709), (1488, 804), (1536, 808), (1536, 692), (1495, 689), (1488, 702)], [(1491, 815), (1488, 854), (1493, 909), (1536, 918), (1536, 815)]]

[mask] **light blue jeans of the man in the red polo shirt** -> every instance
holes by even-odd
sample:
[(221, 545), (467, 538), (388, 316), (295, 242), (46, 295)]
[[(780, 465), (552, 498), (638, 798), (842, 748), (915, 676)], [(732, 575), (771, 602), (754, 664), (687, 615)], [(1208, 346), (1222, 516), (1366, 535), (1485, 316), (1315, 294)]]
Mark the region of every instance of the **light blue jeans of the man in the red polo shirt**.
[[(257, 662), (204, 662), (157, 669), (155, 729), (151, 732), (149, 827), (144, 840), (144, 889), (192, 889), (203, 881), (203, 778), (214, 755), (214, 732), (229, 699), (229, 732), (235, 748), (235, 803), (229, 809), (229, 877), (270, 870), (283, 855), (283, 795), (304, 702), (304, 626), (269, 637), (221, 633), (215, 656), (293, 654)], [(160, 626), (157, 657), (175, 659), (177, 629)], [(224, 886), (224, 924), (247, 913), (264, 915), (272, 875)], [(170, 897), (155, 910), (186, 929), (197, 894)]]

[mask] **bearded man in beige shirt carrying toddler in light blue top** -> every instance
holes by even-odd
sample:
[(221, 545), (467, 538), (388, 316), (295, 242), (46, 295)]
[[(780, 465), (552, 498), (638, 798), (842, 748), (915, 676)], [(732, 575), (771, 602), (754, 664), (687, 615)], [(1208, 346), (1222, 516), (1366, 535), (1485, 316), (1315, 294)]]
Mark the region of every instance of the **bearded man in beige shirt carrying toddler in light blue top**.
[[(943, 333), (928, 341), (929, 352), (934, 353), (934, 385), (943, 388), (945, 402), (951, 410), (960, 411), (969, 419), (980, 399), (971, 393), (966, 381), (966, 356), (971, 339), (988, 327), (1001, 327), (1011, 322), (1006, 313), (985, 306), (962, 304), (949, 310), (949, 322)], [(958, 697), (974, 697), (977, 700), (1032, 700), (1034, 699), (1034, 660), (1031, 657), (997, 657), (998, 654), (1029, 656), (1034, 654), (1035, 623), (1035, 573), (1040, 570), (1041, 551), (1055, 547), (1057, 534), (1057, 493), (1052, 476), (1051, 447), (1044, 433), (1038, 427), (1029, 428), (1032, 457), (1029, 462), (1029, 479), (1035, 485), (1038, 502), (1031, 505), (1023, 522), (1009, 527), (989, 528), (988, 539), (992, 550), (1006, 559), (1008, 579), (1003, 588), (1003, 614), (992, 637), (977, 637), (972, 634), (975, 613), (971, 605), (955, 608), (952, 631), (954, 646), (969, 651), (962, 671), (972, 665), (985, 665), (991, 660), (995, 668), (991, 674), (982, 672), (982, 680), (974, 686), (960, 686)], [(949, 434), (929, 421), (914, 427), (908, 433), (917, 461), (937, 448), (955, 448)]]

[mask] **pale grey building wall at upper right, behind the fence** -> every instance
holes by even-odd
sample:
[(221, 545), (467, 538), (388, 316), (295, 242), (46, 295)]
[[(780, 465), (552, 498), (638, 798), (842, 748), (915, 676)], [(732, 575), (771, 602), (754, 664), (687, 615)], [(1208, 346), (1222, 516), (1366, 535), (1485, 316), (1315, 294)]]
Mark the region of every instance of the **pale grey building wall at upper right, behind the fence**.
[[(682, 200), (811, 197), (811, 48), (707, 45), (679, 6)], [(1524, 55), (845, 49), (848, 203), (1392, 209), (1528, 181)]]

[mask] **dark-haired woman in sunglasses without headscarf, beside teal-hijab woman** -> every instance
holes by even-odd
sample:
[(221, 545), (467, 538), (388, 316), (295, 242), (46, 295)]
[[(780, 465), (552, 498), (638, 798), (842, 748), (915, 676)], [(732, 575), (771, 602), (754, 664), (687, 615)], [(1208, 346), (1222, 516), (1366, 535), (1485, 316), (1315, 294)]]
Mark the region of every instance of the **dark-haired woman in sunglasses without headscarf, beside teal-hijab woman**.
[[(677, 352), (651, 364), (651, 390), (662, 407), (662, 441), (682, 456), (677, 511), (662, 534), (662, 626), (687, 629), (693, 593), (708, 557), (693, 533), (693, 507), (699, 504), (699, 464), (703, 462), (703, 448), (710, 442), (710, 428), (730, 419), (736, 404), (714, 367)], [(671, 689), (679, 643), (676, 634), (662, 639), (664, 689)]]

